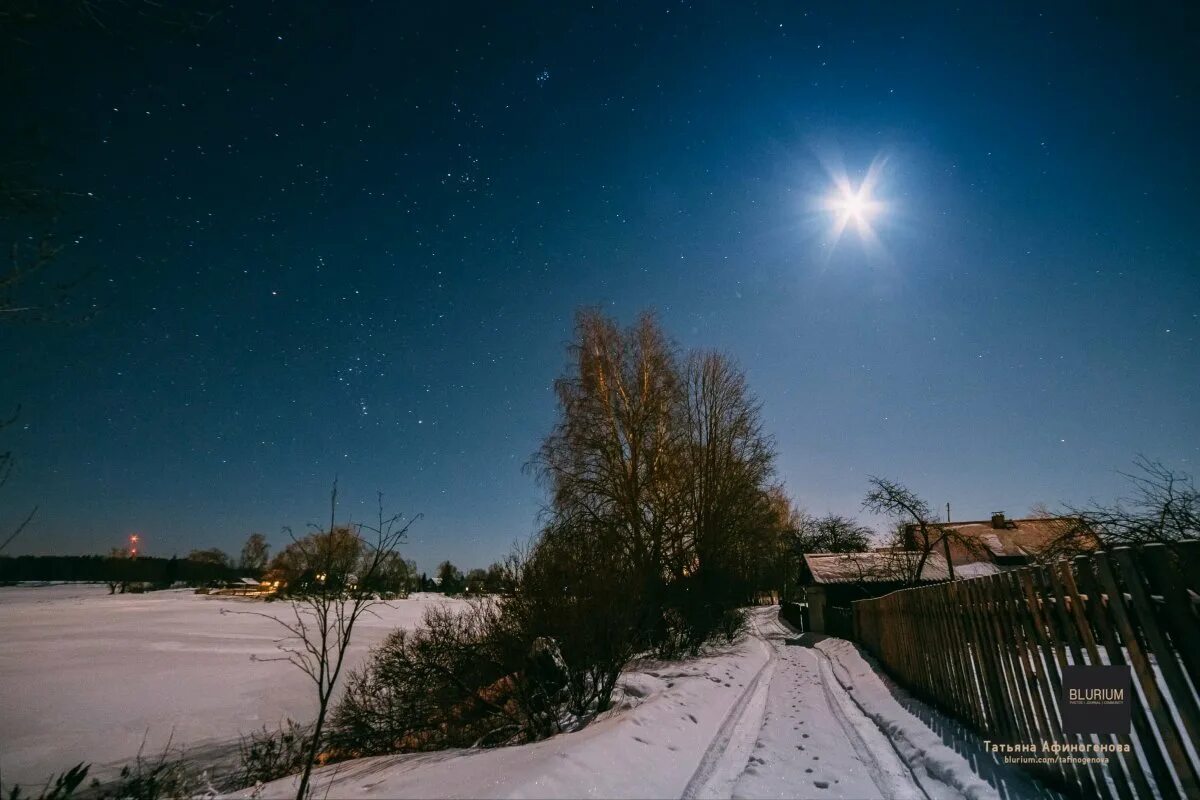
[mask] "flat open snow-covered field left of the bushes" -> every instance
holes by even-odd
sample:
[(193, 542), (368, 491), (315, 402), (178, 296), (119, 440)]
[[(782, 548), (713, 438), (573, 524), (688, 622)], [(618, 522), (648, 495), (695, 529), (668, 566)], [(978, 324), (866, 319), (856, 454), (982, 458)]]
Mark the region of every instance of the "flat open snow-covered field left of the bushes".
[[(440, 595), (415, 595), (364, 616), (350, 666), (397, 627), (414, 627)], [(462, 601), (449, 601), (462, 602)], [(132, 760), (145, 742), (200, 756), (239, 734), (316, 714), (295, 667), (277, 655), (278, 626), (228, 610), (282, 603), (190, 590), (109, 595), (101, 585), (0, 588), (0, 775), (41, 783), (86, 760), (92, 775)], [(106, 769), (108, 768), (108, 769)]]

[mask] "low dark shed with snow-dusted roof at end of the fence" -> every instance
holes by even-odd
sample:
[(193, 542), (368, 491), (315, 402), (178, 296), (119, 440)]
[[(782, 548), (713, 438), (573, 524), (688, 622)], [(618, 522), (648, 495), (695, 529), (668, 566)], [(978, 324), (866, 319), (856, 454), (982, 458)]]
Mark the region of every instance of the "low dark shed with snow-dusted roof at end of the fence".
[(910, 578), (918, 565), (919, 584), (940, 583), (950, 577), (946, 558), (937, 553), (930, 553), (924, 564), (920, 564), (920, 553), (901, 549), (805, 553), (799, 583), (809, 609), (806, 630), (850, 636), (850, 603), (912, 585)]

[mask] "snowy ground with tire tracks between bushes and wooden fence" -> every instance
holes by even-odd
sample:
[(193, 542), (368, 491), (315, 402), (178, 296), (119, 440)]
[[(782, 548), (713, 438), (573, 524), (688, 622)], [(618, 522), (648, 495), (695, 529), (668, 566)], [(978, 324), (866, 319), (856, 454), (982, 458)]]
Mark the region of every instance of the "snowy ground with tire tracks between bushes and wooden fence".
[[(778, 607), (754, 609), (751, 622), (751, 636), (704, 657), (635, 664), (617, 708), (580, 732), (520, 747), (335, 764), (314, 772), (313, 794), (1052, 796), (892, 686), (852, 644), (800, 636), (778, 620)], [(293, 777), (234, 796), (294, 795)]]

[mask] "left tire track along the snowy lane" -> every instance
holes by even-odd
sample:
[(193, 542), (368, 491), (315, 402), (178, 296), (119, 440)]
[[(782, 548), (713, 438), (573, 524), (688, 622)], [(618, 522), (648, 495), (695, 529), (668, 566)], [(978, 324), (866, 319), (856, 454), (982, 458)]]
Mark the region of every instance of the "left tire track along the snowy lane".
[(762, 636), (756, 618), (757, 614), (751, 616), (750, 626), (754, 628), (755, 638), (767, 650), (767, 662), (758, 668), (745, 691), (730, 709), (716, 732), (716, 736), (713, 738), (704, 756), (700, 759), (700, 766), (696, 768), (688, 786), (684, 787), (683, 800), (730, 796), (750, 762), (755, 742), (758, 740), (758, 732), (762, 729), (763, 715), (767, 712), (767, 692), (770, 688), (770, 679), (775, 674), (775, 664), (779, 660), (775, 648)]

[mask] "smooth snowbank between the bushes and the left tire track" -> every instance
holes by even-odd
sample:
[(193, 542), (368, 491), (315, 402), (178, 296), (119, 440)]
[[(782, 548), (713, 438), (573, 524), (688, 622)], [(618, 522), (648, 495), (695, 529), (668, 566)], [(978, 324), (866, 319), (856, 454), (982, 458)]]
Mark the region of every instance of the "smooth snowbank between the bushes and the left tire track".
[[(314, 772), (313, 796), (679, 798), (768, 660), (760, 639), (626, 672), (617, 708), (576, 733), (520, 747), (347, 762)], [(239, 798), (293, 798), (295, 778)]]

